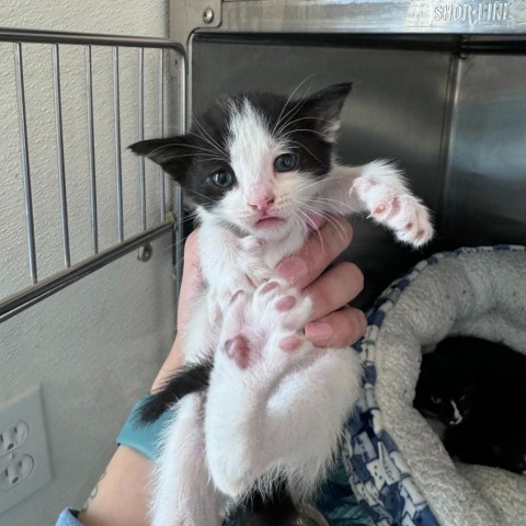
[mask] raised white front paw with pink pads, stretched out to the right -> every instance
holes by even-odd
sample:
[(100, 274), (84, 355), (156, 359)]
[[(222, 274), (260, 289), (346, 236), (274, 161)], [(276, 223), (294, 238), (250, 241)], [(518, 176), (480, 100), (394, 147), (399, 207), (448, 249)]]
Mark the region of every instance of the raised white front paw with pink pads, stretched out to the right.
[(367, 164), (350, 192), (365, 204), (369, 217), (393, 230), (400, 241), (421, 247), (433, 237), (430, 210), (405, 187), (401, 173), (391, 164)]

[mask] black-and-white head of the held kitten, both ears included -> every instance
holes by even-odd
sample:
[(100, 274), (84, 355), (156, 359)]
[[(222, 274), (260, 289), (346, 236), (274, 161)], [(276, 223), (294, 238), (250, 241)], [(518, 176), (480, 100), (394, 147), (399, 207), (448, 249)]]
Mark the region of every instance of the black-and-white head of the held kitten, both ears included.
[(213, 106), (182, 137), (138, 142), (180, 182), (202, 216), (262, 239), (316, 218), (350, 84), (293, 101), (241, 95)]

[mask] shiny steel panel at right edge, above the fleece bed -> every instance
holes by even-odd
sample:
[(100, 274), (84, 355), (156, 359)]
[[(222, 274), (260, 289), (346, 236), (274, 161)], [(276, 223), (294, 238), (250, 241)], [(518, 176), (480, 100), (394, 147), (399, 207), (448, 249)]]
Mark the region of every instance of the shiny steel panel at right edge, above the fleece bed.
[(445, 203), (449, 247), (526, 244), (526, 56), (461, 61)]

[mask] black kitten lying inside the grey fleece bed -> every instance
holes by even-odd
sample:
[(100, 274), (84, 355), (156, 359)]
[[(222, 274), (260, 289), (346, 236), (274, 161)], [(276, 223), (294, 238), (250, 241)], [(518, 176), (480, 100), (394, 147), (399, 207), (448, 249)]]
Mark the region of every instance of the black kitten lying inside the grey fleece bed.
[(472, 336), (424, 354), (414, 407), (445, 427), (451, 457), (526, 474), (526, 356)]

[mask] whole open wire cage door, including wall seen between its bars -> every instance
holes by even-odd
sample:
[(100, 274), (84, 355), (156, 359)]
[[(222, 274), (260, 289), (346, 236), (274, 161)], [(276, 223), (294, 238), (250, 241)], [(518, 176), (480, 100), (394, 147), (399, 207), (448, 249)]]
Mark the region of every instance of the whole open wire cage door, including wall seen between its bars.
[(0, 30), (0, 65), (1, 322), (180, 236), (179, 188), (126, 147), (182, 132), (185, 58), (167, 39)]

